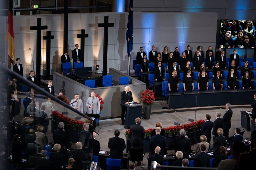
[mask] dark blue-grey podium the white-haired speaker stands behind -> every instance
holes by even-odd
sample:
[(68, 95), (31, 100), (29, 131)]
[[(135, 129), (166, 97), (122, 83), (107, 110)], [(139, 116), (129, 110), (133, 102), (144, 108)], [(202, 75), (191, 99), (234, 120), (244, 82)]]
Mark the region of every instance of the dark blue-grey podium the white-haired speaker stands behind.
[(142, 104), (134, 102), (131, 105), (129, 104), (123, 104), (123, 105), (127, 107), (126, 114), (125, 114), (124, 128), (129, 129), (131, 125), (135, 124), (136, 118), (141, 119)]

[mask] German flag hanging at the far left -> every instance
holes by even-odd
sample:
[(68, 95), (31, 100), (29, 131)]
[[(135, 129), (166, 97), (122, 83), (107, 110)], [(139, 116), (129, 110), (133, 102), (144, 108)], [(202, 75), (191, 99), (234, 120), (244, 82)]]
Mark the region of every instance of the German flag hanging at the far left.
[(10, 56), (12, 65), (14, 65), (15, 64), (15, 53), (14, 53), (12, 8), (13, 8), (13, 1), (9, 0), (8, 21), (7, 21), (7, 27), (6, 27), (5, 40), (8, 42), (8, 56)]

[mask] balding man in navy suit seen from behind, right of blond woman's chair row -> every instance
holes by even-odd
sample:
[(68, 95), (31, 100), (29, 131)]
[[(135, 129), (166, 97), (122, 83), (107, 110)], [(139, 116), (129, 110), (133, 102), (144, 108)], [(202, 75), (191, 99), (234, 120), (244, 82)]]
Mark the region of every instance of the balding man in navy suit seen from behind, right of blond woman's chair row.
[(153, 155), (155, 153), (154, 152), (155, 148), (157, 146), (159, 146), (161, 148), (161, 151), (160, 151), (159, 155), (164, 156), (164, 149), (166, 148), (165, 137), (160, 135), (160, 133), (161, 133), (161, 128), (160, 127), (157, 127), (155, 132), (156, 132), (156, 135), (152, 136), (150, 138), (150, 142), (149, 142), (149, 149), (151, 150), (151, 155)]

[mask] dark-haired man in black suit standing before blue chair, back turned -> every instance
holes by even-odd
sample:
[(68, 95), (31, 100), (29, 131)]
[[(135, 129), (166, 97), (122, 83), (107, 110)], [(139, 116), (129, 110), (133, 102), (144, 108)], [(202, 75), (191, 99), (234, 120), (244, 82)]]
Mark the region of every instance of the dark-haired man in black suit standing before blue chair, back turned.
[(115, 137), (108, 140), (109, 156), (111, 159), (123, 159), (124, 149), (126, 148), (124, 139), (119, 138), (119, 130), (115, 130), (114, 134)]

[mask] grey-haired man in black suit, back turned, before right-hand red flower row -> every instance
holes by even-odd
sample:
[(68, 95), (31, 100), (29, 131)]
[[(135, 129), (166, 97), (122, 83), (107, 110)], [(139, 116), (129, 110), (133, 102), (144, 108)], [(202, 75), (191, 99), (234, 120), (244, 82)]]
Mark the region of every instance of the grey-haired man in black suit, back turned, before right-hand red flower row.
[(174, 141), (174, 151), (175, 153), (177, 151), (181, 151), (183, 153), (182, 159), (189, 158), (189, 153), (191, 150), (191, 143), (190, 139), (185, 137), (186, 136), (186, 131), (184, 129), (180, 130), (180, 138), (175, 139)]

